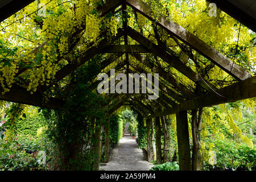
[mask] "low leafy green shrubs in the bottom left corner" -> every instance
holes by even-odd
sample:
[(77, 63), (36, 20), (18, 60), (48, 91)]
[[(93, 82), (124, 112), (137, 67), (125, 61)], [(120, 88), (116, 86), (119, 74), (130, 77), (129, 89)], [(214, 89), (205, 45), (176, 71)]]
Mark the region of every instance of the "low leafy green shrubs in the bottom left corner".
[[(46, 164), (39, 164), (39, 151), (46, 152)], [(46, 170), (51, 160), (51, 142), (18, 137), (11, 142), (0, 141), (0, 170)]]

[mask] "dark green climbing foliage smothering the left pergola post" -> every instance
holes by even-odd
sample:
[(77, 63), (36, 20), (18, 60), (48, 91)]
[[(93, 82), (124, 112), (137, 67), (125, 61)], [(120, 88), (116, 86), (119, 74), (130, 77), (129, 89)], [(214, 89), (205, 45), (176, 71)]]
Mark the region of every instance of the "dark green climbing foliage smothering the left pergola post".
[(92, 78), (97, 75), (99, 67), (94, 59), (73, 73), (72, 90), (64, 92), (65, 105), (59, 110), (45, 110), (48, 118), (48, 136), (55, 143), (56, 169), (92, 169), (94, 120), (104, 121), (102, 105), (105, 100), (88, 87)]

